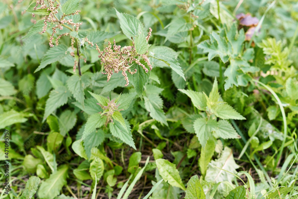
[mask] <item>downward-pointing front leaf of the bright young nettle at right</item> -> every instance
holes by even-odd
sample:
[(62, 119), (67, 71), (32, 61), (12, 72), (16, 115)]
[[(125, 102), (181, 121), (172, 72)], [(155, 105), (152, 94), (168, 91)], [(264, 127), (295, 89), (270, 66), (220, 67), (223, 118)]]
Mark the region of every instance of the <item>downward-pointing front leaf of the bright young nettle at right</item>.
[(203, 148), (216, 127), (217, 122), (212, 119), (206, 120), (206, 118), (198, 118), (194, 121), (193, 128), (195, 129), (195, 134)]

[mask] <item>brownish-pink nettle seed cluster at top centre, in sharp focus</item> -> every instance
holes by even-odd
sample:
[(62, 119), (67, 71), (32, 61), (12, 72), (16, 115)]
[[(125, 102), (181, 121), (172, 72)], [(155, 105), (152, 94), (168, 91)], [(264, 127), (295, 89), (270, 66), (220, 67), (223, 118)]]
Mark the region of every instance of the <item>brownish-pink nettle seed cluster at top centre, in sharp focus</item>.
[[(151, 32), (152, 32), (152, 29), (149, 28), (148, 36), (146, 36), (147, 42), (151, 36)], [(97, 44), (95, 44), (96, 50), (100, 54), (98, 55), (98, 57), (101, 58), (101, 64), (104, 66), (104, 69), (105, 69), (105, 72), (102, 72), (102, 74), (108, 75), (107, 82), (110, 80), (111, 76), (113, 75), (113, 70), (116, 73), (118, 73), (119, 71), (122, 71), (122, 75), (126, 80), (125, 86), (128, 86), (129, 81), (128, 81), (126, 71), (128, 71), (132, 75), (137, 72), (136, 69), (134, 71), (131, 71), (130, 64), (132, 64), (132, 62), (135, 62), (136, 64), (141, 66), (147, 73), (149, 70), (136, 57), (139, 57), (139, 58), (142, 57), (145, 63), (150, 67), (150, 70), (152, 70), (152, 65), (150, 64), (148, 57), (145, 54), (142, 54), (142, 55), (138, 54), (134, 47), (133, 38), (131, 38), (131, 40), (132, 40), (132, 46), (125, 46), (121, 48), (121, 46), (116, 45), (116, 42), (114, 39), (113, 49), (112, 49), (111, 42), (108, 41), (108, 47), (106, 47), (103, 51), (100, 51)]]

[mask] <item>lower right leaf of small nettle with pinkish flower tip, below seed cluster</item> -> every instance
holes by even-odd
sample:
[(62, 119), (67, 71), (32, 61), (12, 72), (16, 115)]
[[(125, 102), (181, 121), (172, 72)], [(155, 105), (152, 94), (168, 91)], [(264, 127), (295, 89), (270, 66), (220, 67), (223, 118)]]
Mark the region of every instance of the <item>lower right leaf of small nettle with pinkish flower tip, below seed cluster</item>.
[(127, 120), (124, 121), (126, 128), (124, 128), (118, 121), (109, 123), (110, 131), (114, 137), (119, 138), (124, 143), (128, 144), (136, 150), (136, 146), (131, 134), (131, 127)]

